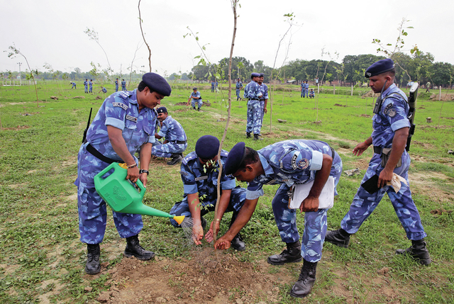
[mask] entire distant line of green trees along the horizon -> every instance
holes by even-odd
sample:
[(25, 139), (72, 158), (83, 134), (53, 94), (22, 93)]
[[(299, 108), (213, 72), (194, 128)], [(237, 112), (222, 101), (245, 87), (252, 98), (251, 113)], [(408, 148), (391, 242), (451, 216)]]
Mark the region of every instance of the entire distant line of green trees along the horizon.
[[(292, 60), (281, 68), (272, 69), (263, 64), (263, 60), (258, 60), (254, 64), (244, 57), (232, 58), (232, 79), (236, 81), (240, 78), (242, 81), (249, 81), (250, 73), (258, 72), (265, 74), (265, 82), (285, 83), (293, 80), (295, 84), (300, 84), (301, 81), (314, 81), (317, 77), (319, 82), (323, 84), (331, 84), (332, 81), (337, 81), (337, 85), (355, 85), (365, 82), (365, 69), (370, 64), (377, 60), (384, 59), (383, 56), (377, 55), (346, 55), (341, 63), (333, 60)], [(430, 81), (436, 86), (451, 86), (454, 82), (454, 65), (448, 62), (434, 62), (431, 53), (419, 52), (414, 55), (406, 55), (404, 53), (396, 53), (393, 55), (393, 60), (396, 62), (396, 82), (401, 86), (406, 86), (409, 81), (419, 81), (421, 84), (426, 84)], [(65, 80), (80, 80), (80, 79), (103, 79), (113, 81), (118, 79), (129, 79), (130, 74), (111, 74), (105, 75), (100, 71), (82, 72), (76, 67), (74, 71), (61, 72), (38, 72), (35, 76), (37, 79), (65, 79)], [(210, 73), (211, 72), (211, 73)], [(22, 72), (22, 79), (26, 79), (27, 73)], [(133, 71), (131, 80), (139, 81), (143, 71)], [(170, 81), (212, 81), (209, 75), (219, 74), (221, 79), (216, 79), (220, 82), (228, 79), (228, 58), (219, 60), (214, 64), (198, 64), (192, 67), (189, 73), (172, 73), (167, 79)], [(16, 79), (18, 72), (0, 72), (3, 79)], [(273, 79), (270, 79), (272, 76)]]

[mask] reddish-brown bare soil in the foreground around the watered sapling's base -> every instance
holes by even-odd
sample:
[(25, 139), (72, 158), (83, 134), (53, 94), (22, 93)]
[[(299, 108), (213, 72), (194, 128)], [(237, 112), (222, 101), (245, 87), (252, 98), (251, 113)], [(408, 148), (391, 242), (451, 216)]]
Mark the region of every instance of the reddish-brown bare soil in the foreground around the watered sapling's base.
[[(281, 300), (277, 281), (266, 263), (239, 261), (233, 254), (210, 248), (190, 261), (157, 258), (144, 262), (124, 258), (109, 269), (112, 287), (99, 295), (101, 303), (258, 303)], [(291, 283), (295, 278), (284, 278)]]

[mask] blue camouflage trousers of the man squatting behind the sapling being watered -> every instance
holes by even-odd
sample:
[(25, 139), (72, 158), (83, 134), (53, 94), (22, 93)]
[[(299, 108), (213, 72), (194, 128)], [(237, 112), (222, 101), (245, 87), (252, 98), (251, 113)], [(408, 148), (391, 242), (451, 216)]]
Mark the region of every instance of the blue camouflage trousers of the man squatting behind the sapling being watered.
[[(243, 207), (244, 201), (246, 199), (246, 189), (240, 188), (239, 186), (232, 189), (232, 193), (230, 196), (230, 202), (228, 203), (228, 207), (226, 212), (233, 211), (233, 217), (236, 217), (236, 214), (240, 211), (241, 207)], [(210, 211), (214, 211), (216, 207), (216, 200), (213, 201), (206, 201), (202, 203), (203, 206), (208, 206), (207, 208), (201, 208), (200, 215), (204, 216), (206, 213)], [(211, 205), (211, 206), (210, 206)], [(199, 207), (197, 207), (199, 208)], [(183, 198), (183, 201), (175, 203), (175, 205), (170, 209), (170, 215), (184, 215), (186, 218), (191, 218), (191, 212), (189, 211), (189, 205), (187, 201), (187, 196)], [(170, 223), (175, 227), (180, 227), (175, 220), (170, 220)]]

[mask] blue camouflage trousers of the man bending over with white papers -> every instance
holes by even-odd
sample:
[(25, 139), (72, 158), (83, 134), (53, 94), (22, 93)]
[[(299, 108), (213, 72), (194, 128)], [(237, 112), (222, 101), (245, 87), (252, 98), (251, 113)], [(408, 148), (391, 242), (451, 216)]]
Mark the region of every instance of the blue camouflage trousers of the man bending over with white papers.
[[(337, 185), (342, 173), (341, 157), (335, 153), (333, 167), (330, 175), (334, 178), (334, 184)], [(275, 215), (277, 229), (281, 236), (282, 242), (292, 243), (299, 240), (297, 228), (297, 212), (299, 209), (289, 209), (289, 191), (290, 187), (283, 184), (277, 189), (275, 198), (272, 200), (272, 211)], [(335, 195), (337, 194), (335, 189)], [(304, 213), (304, 232), (301, 244), (301, 256), (310, 262), (320, 261), (321, 249), (326, 235), (326, 213), (328, 209), (319, 209), (316, 212)]]

